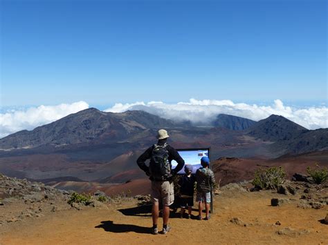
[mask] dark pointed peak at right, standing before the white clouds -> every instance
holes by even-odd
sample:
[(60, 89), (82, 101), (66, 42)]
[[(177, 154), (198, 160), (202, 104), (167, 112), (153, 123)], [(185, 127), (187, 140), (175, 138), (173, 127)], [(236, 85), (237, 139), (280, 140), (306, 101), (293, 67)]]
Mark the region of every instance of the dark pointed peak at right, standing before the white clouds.
[(282, 116), (271, 115), (258, 121), (248, 129), (248, 135), (265, 141), (279, 141), (293, 139), (301, 133), (308, 131), (293, 121)]

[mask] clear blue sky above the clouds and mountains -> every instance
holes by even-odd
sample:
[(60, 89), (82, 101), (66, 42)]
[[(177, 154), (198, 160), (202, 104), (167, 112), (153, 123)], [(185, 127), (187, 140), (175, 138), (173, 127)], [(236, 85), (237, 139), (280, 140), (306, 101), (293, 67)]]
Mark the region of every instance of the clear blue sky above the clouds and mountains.
[(1, 106), (190, 98), (327, 102), (326, 1), (1, 1)]

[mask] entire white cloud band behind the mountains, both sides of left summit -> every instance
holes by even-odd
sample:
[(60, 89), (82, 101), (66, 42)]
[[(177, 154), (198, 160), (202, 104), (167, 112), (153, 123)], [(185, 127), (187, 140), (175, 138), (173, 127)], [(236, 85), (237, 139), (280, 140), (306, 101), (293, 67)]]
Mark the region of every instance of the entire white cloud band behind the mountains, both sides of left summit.
[[(89, 108), (89, 104), (78, 101), (73, 104), (57, 106), (38, 106), (26, 110), (10, 110), (0, 113), (0, 138), (6, 137), (20, 130), (32, 130), (37, 126), (49, 124), (66, 115)], [(197, 100), (188, 102), (165, 104), (161, 101), (132, 104), (115, 104), (104, 110), (106, 112), (125, 112), (126, 110), (144, 110), (165, 119), (174, 121), (192, 121), (194, 124), (210, 124), (218, 114), (224, 113), (245, 117), (255, 121), (264, 119), (272, 114), (282, 115), (308, 129), (328, 128), (328, 108), (293, 108), (284, 106), (280, 99), (276, 99), (271, 106), (256, 104), (234, 103), (230, 100)]]

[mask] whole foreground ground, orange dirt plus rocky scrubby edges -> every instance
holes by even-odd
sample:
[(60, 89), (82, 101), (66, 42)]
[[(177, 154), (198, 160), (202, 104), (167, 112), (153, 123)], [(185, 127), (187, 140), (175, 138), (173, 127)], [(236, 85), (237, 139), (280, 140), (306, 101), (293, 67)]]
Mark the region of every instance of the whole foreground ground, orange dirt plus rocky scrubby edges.
[(296, 176), (278, 190), (254, 190), (223, 186), (210, 220), (197, 220), (194, 206), (192, 219), (172, 212), (172, 231), (152, 235), (148, 196), (97, 192), (69, 204), (71, 192), (1, 175), (0, 244), (327, 244), (327, 184)]

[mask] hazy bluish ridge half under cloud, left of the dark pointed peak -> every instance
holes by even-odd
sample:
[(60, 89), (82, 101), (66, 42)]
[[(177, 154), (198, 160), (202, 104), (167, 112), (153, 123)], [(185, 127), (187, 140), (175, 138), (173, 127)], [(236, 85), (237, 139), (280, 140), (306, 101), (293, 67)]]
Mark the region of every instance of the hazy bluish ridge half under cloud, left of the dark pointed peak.
[(219, 114), (212, 125), (219, 128), (228, 128), (231, 130), (244, 130), (256, 124), (256, 121), (233, 115)]

